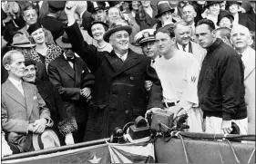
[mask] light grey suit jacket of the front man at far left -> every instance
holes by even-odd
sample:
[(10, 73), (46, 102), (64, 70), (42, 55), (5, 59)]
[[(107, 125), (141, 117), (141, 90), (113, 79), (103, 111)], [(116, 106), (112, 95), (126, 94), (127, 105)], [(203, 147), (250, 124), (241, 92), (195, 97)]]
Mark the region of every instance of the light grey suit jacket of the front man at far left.
[(2, 84), (2, 127), (6, 131), (7, 141), (14, 144), (20, 144), (16, 143), (14, 133), (27, 135), (29, 123), (41, 118), (51, 121), (50, 111), (46, 108), (46, 102), (38, 93), (36, 86), (27, 82), (22, 82), (22, 85), (25, 97), (9, 80)]

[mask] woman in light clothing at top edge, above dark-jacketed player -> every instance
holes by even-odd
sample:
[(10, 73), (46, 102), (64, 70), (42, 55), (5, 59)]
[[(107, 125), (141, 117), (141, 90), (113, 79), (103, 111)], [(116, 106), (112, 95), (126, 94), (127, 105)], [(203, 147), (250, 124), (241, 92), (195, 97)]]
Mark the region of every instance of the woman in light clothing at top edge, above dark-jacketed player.
[(207, 5), (205, 5), (207, 10), (201, 14), (203, 18), (210, 19), (215, 24), (215, 27), (217, 26), (218, 15), (220, 14), (221, 2), (222, 1), (207, 1)]

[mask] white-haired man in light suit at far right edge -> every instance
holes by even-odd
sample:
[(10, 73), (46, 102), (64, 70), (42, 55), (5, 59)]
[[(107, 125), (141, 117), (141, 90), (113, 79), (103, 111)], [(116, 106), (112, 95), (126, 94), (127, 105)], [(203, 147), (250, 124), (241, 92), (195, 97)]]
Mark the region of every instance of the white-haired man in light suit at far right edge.
[(248, 134), (255, 134), (255, 51), (250, 47), (249, 29), (241, 24), (232, 28), (231, 42), (241, 54), (244, 68), (245, 103), (248, 112)]

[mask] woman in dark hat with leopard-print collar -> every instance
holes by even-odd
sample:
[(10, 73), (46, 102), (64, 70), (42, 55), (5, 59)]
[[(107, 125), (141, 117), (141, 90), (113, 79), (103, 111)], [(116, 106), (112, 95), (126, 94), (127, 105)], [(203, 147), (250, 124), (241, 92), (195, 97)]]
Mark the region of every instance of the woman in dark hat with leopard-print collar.
[(41, 24), (31, 24), (27, 29), (27, 33), (36, 43), (36, 47), (32, 49), (30, 58), (36, 62), (47, 65), (61, 54), (61, 49), (56, 44), (46, 43), (46, 35)]

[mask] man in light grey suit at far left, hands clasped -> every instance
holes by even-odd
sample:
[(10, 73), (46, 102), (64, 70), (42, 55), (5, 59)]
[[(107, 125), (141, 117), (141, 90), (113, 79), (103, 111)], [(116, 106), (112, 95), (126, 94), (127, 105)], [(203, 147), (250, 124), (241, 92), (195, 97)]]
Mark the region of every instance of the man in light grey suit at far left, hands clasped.
[[(36, 86), (21, 80), (24, 62), (23, 53), (16, 50), (5, 53), (3, 57), (8, 79), (2, 84), (1, 121), (6, 140), (14, 153), (35, 150), (34, 134), (42, 134), (46, 127), (53, 125), (50, 111)], [(44, 148), (49, 146), (46, 144)]]

